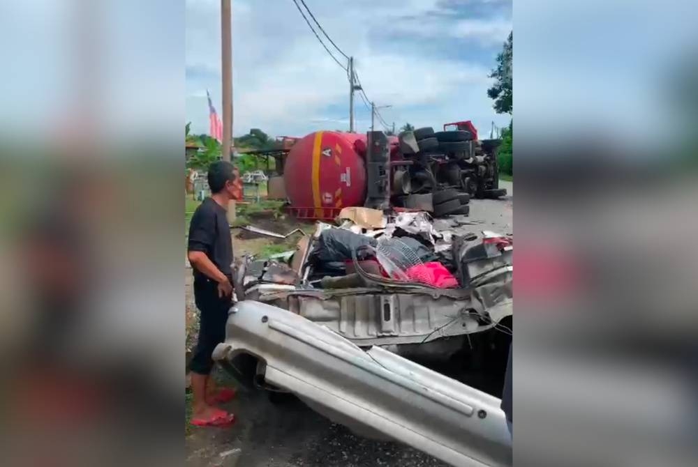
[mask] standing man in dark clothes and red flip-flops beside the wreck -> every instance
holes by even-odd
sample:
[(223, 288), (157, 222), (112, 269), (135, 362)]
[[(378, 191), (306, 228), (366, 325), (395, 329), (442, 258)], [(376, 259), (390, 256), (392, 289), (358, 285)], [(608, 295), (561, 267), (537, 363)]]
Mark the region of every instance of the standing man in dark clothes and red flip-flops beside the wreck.
[(214, 404), (230, 401), (231, 389), (218, 390), (211, 378), (211, 358), (225, 339), (225, 323), (232, 305), (232, 240), (226, 218), (228, 201), (235, 194), (235, 174), (230, 162), (217, 161), (208, 173), (211, 197), (205, 199), (191, 218), (187, 257), (193, 268), (194, 298), (200, 310), (199, 337), (191, 360), (193, 392), (192, 424), (200, 427), (228, 426), (235, 415)]

